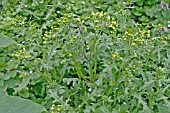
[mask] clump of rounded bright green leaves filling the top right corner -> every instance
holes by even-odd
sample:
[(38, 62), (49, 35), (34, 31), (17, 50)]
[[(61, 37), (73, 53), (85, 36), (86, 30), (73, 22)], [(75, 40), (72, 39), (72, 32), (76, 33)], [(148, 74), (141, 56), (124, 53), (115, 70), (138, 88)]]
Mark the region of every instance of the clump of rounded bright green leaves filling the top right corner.
[(134, 8), (132, 8), (132, 13), (134, 19), (139, 20), (143, 23), (154, 22), (162, 23), (168, 25), (168, 20), (170, 17), (169, 13), (169, 0), (162, 1), (160, 0), (130, 0)]

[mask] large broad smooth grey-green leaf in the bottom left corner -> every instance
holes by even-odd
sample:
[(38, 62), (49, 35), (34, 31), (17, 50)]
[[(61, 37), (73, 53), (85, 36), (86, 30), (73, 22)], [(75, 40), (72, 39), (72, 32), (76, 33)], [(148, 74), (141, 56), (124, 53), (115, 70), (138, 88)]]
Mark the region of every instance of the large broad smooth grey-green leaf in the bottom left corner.
[(46, 109), (33, 101), (0, 92), (0, 113), (41, 113)]

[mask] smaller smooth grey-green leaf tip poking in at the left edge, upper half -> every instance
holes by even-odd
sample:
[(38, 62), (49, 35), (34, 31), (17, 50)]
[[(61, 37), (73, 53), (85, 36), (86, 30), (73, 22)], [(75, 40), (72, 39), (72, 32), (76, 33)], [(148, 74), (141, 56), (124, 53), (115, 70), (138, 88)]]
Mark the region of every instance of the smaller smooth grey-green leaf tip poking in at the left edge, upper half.
[(0, 34), (0, 47), (7, 47), (15, 44), (15, 41), (10, 39), (8, 36)]

